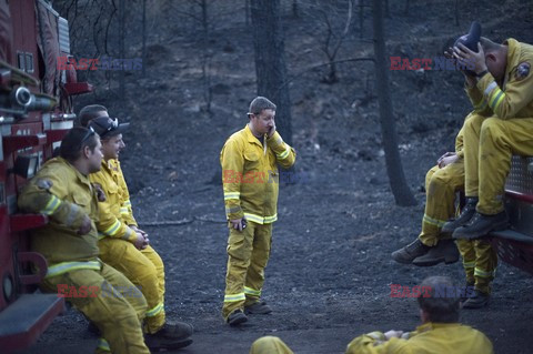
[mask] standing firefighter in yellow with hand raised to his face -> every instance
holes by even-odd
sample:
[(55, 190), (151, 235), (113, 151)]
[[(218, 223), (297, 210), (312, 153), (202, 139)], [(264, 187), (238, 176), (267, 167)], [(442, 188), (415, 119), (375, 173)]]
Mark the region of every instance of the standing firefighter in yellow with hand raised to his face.
[(295, 152), (275, 131), (275, 104), (258, 97), (250, 122), (231, 135), (220, 153), (225, 214), (229, 221), (228, 272), (222, 315), (230, 325), (247, 313), (270, 313), (261, 299), (270, 256), (272, 223), (278, 220), (279, 171), (294, 164)]

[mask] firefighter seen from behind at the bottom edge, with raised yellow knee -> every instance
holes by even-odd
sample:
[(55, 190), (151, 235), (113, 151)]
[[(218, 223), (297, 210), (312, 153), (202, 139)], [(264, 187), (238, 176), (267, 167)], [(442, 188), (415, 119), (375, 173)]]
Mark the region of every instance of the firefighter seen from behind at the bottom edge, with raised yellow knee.
[[(461, 291), (452, 284), (447, 276), (430, 276), (420, 286), (421, 289), (430, 287), (431, 291), (428, 291), (429, 296), (418, 297), (422, 325), (416, 327), (416, 331), (363, 334), (348, 345), (345, 353), (494, 353), (491, 341), (483, 333), (459, 323)], [(442, 296), (443, 293), (446, 296)], [(452, 295), (451, 293), (457, 296), (447, 296)], [(255, 341), (250, 354), (292, 354), (292, 351), (280, 338), (268, 336)]]

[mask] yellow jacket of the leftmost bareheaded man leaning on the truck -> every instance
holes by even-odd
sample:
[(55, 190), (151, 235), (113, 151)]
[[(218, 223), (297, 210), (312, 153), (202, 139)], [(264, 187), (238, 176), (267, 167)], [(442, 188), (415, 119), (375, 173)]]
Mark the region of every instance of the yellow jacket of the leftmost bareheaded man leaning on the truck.
[[(31, 231), (31, 249), (49, 263), (47, 276), (73, 269), (100, 269), (97, 257), (98, 201), (89, 179), (62, 158), (46, 162), (22, 189), (19, 208), (49, 216), (46, 226)], [(79, 235), (84, 215), (92, 229)]]

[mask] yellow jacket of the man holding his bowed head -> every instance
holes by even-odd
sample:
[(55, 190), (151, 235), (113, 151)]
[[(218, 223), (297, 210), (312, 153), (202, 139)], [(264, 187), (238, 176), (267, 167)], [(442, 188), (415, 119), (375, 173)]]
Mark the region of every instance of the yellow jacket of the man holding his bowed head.
[(487, 107), (500, 119), (533, 118), (533, 45), (507, 39), (503, 87), (489, 72), (477, 81)]

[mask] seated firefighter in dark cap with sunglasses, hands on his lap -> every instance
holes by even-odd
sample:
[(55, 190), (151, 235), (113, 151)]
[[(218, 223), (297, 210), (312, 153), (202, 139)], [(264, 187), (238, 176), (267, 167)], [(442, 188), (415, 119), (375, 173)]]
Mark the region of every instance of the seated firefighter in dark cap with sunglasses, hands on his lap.
[[(83, 122), (87, 110), (82, 110), (82, 113)], [(138, 285), (147, 299), (144, 332), (150, 350), (180, 348), (192, 343), (189, 336), (193, 328), (187, 323), (169, 323), (165, 320), (164, 265), (149, 244), (148, 234), (138, 227), (118, 161), (120, 151), (125, 146), (122, 132), (128, 125), (109, 118), (107, 111), (89, 121), (89, 127), (102, 140), (103, 152), (100, 172), (90, 175), (91, 182), (105, 194), (105, 201), (99, 203), (97, 223), (100, 257)]]

